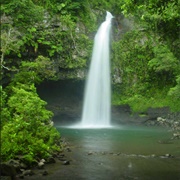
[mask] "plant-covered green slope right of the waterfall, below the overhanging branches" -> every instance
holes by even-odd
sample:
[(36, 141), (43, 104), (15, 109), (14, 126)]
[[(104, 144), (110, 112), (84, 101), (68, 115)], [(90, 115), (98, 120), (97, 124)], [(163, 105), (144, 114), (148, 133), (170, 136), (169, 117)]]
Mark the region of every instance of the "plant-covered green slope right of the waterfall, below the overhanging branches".
[[(162, 44), (156, 34), (138, 30), (113, 42), (112, 69), (122, 79), (113, 92), (113, 104), (129, 104), (139, 112), (163, 106), (180, 110), (178, 84), (174, 87), (179, 62), (168, 46)], [(168, 96), (169, 90), (174, 96)]]

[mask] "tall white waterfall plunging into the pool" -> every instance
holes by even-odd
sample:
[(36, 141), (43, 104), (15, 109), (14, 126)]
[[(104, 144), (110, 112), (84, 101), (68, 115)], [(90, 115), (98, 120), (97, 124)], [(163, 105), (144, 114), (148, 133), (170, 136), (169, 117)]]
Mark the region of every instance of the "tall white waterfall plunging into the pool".
[(111, 87), (109, 62), (109, 36), (111, 19), (107, 12), (94, 39), (90, 70), (85, 89), (82, 127), (110, 126)]

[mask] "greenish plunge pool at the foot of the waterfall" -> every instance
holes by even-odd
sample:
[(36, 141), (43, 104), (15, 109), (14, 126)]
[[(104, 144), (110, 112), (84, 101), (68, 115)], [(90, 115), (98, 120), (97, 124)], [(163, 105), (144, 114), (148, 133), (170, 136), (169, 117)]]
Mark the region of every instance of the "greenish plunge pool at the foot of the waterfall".
[(167, 130), (58, 129), (72, 145), (80, 179), (180, 179), (180, 141)]

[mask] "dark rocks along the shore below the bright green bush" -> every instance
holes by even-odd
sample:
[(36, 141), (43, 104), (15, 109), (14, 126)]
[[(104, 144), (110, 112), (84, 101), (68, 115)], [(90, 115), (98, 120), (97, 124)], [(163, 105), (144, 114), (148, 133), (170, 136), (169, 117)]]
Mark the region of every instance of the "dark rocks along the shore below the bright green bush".
[(66, 146), (63, 151), (54, 153), (47, 159), (39, 159), (32, 166), (25, 164), (21, 156), (10, 159), (8, 162), (1, 163), (0, 178), (1, 180), (18, 180), (27, 179), (29, 176), (47, 176), (49, 174), (49, 165), (66, 166), (70, 164), (70, 160), (66, 155), (67, 152), (71, 152), (71, 149)]

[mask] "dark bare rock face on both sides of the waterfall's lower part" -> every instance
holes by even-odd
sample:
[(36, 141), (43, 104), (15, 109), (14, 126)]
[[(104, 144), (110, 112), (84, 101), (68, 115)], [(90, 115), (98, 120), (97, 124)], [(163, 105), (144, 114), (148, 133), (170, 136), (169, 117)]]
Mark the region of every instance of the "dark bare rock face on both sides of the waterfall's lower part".
[[(54, 113), (55, 125), (68, 125), (81, 120), (84, 87), (85, 81), (77, 80), (48, 81), (37, 87), (39, 96), (47, 101), (47, 108)], [(149, 108), (145, 114), (133, 114), (128, 105), (112, 106), (111, 122), (115, 125), (156, 125), (158, 117), (168, 119), (170, 114), (168, 107)], [(179, 113), (172, 116), (177, 120)]]

